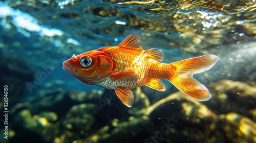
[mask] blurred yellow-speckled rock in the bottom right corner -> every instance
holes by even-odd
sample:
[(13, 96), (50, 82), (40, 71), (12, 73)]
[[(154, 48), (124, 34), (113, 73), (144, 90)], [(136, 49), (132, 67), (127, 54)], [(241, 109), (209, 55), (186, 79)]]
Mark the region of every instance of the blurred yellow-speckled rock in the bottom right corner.
[(256, 123), (249, 118), (228, 113), (219, 115), (211, 125), (211, 135), (207, 142), (256, 142)]

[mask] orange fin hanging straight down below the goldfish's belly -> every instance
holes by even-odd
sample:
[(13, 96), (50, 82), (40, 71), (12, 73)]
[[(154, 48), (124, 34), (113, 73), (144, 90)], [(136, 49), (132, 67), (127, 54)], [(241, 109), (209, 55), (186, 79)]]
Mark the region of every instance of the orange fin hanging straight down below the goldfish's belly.
[(132, 107), (134, 96), (131, 89), (119, 86), (115, 92), (124, 105), (127, 107)]

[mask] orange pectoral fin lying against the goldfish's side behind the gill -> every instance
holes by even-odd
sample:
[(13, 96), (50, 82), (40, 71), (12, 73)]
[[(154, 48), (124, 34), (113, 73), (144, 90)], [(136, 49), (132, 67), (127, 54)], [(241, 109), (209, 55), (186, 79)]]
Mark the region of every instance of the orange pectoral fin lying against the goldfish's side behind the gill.
[(140, 74), (139, 68), (127, 68), (117, 73), (110, 74), (113, 80), (126, 80), (138, 76)]

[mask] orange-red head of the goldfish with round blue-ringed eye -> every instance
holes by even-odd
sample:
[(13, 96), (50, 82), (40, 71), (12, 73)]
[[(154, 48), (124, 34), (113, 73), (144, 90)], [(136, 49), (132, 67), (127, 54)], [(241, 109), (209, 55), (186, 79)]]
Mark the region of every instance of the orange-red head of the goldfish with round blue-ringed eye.
[(89, 51), (73, 55), (63, 62), (63, 69), (79, 80), (96, 83), (109, 76), (114, 68), (110, 56), (102, 51)]

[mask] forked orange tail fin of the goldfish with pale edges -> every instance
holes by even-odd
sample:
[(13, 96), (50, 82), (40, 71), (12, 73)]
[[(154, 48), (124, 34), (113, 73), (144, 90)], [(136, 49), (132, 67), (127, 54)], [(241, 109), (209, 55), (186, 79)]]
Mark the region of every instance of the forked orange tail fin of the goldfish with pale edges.
[(194, 74), (210, 69), (219, 60), (215, 55), (204, 55), (171, 63), (176, 67), (176, 77), (169, 79), (180, 91), (198, 101), (211, 98), (208, 89), (193, 78)]

